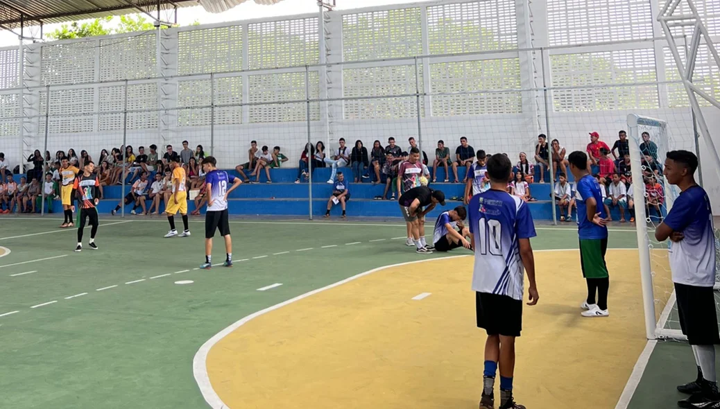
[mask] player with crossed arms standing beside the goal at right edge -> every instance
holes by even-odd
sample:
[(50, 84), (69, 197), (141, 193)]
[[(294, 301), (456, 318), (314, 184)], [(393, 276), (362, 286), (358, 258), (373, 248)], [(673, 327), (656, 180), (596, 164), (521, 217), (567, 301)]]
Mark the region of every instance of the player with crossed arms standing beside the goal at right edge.
[(668, 253), (678, 299), (680, 328), (688, 336), (698, 364), (698, 378), (678, 386), (691, 394), (680, 408), (720, 408), (715, 372), (715, 345), (720, 343), (713, 286), (715, 235), (710, 199), (695, 182), (698, 158), (687, 150), (667, 153), (662, 173), (680, 188), (672, 209), (655, 229), (657, 241), (670, 238)]

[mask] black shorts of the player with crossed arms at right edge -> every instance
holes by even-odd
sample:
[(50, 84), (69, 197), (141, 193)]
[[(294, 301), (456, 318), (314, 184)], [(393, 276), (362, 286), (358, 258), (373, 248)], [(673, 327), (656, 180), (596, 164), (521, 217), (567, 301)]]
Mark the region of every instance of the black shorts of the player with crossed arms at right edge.
[(675, 283), (680, 328), (690, 345), (720, 343), (713, 287)]

